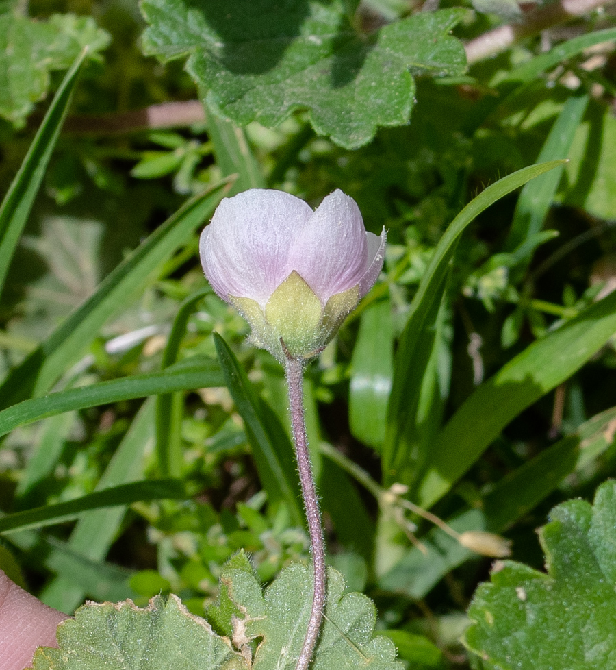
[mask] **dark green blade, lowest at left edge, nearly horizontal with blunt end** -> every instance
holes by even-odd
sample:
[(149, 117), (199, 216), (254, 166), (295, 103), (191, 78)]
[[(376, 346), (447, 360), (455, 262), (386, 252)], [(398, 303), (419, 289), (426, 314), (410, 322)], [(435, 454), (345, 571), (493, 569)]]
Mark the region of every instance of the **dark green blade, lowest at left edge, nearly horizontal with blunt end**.
[(0, 533), (30, 528), (42, 528), (46, 525), (63, 523), (77, 519), (86, 510), (101, 507), (126, 506), (133, 502), (172, 498), (182, 500), (187, 497), (183, 482), (180, 480), (146, 480), (95, 491), (62, 503), (36, 507), (32, 510), (15, 512), (0, 517)]

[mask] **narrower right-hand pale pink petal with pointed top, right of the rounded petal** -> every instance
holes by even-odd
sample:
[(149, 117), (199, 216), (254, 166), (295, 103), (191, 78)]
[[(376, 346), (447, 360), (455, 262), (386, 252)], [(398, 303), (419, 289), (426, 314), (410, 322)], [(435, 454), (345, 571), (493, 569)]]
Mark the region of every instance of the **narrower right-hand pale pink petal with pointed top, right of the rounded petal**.
[(296, 238), (287, 270), (295, 270), (325, 304), (357, 286), (368, 264), (363, 219), (355, 200), (335, 190)]

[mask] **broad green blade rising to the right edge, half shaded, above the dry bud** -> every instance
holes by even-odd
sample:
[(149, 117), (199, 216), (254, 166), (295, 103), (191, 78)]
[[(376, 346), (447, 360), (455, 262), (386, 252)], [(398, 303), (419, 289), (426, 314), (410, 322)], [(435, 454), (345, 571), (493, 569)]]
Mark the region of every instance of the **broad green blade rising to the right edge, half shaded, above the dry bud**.
[(440, 499), (517, 415), (580, 369), (616, 332), (616, 293), (537, 340), (479, 386), (437, 436), (418, 504)]

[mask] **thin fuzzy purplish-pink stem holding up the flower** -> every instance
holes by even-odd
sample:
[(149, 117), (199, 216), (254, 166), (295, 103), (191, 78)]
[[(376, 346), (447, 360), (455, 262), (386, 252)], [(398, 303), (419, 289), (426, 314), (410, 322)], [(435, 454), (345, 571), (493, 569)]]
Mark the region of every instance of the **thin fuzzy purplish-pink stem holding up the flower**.
[(325, 543), (321, 527), (321, 512), (312, 476), (312, 467), (308, 452), (308, 440), (306, 437), (306, 424), (304, 420), (303, 403), (303, 380), (304, 360), (291, 356), (284, 343), (285, 373), (287, 375), (287, 386), (289, 388), (289, 401), (291, 411), (291, 424), (293, 429), (293, 441), (295, 444), (295, 456), (302, 485), (302, 495), (308, 531), (312, 545), (312, 564), (314, 575), (314, 591), (312, 597), (312, 609), (308, 621), (308, 630), (304, 638), (304, 644), (297, 661), (295, 670), (307, 670), (316, 647), (326, 597), (326, 567), (325, 567)]

